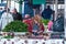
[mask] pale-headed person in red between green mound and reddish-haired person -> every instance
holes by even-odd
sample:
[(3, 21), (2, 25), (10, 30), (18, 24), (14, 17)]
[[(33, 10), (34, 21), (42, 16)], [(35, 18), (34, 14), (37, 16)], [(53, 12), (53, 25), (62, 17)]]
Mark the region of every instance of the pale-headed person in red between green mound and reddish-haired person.
[(25, 14), (23, 22), (28, 24), (28, 31), (32, 33), (32, 18), (30, 18), (30, 14)]

